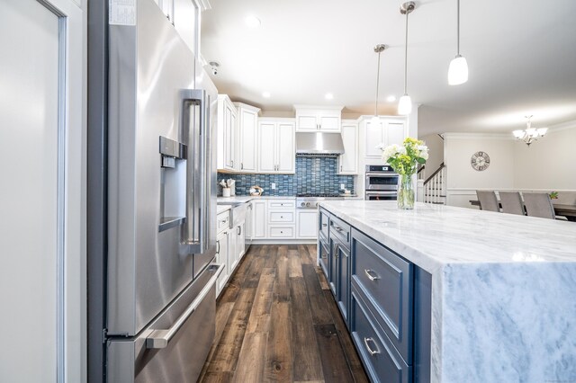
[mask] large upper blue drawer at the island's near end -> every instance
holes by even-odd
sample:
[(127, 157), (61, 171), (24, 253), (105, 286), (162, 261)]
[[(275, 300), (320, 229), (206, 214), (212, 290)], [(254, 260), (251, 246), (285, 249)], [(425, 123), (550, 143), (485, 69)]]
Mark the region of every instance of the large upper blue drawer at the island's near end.
[(413, 264), (352, 229), (352, 284), (402, 358), (412, 363)]

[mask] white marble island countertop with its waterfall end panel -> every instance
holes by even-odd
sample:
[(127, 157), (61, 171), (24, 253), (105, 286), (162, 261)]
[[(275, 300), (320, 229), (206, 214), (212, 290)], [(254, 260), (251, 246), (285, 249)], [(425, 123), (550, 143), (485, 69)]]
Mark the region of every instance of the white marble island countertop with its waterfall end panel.
[(395, 201), (321, 208), (351, 227), (350, 264), (356, 232), (431, 276), (430, 381), (576, 381), (573, 223)]

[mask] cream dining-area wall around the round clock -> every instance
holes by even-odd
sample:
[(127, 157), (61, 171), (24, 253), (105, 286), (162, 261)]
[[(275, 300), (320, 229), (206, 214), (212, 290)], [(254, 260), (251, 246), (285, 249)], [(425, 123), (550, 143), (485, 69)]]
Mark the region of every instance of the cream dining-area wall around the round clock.
[[(576, 171), (570, 155), (576, 147), (576, 121), (553, 127), (530, 147), (511, 134), (446, 133), (447, 204), (471, 208), (477, 189), (558, 191), (561, 203), (576, 203)], [(491, 158), (477, 172), (470, 157), (482, 150)]]

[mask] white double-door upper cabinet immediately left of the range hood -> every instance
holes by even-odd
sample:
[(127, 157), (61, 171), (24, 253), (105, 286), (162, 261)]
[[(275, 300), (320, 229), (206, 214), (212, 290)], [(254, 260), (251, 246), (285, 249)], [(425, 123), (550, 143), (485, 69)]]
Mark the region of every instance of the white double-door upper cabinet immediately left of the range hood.
[(293, 119), (260, 119), (257, 171), (293, 174), (296, 163)]

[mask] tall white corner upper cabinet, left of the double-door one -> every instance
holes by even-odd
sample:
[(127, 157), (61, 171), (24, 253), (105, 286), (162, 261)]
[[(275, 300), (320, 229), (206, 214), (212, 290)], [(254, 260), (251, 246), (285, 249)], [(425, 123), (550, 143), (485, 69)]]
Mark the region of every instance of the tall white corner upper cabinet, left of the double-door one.
[(257, 171), (257, 133), (258, 108), (242, 102), (234, 102), (238, 109), (238, 147), (236, 150), (237, 170), (256, 173)]

